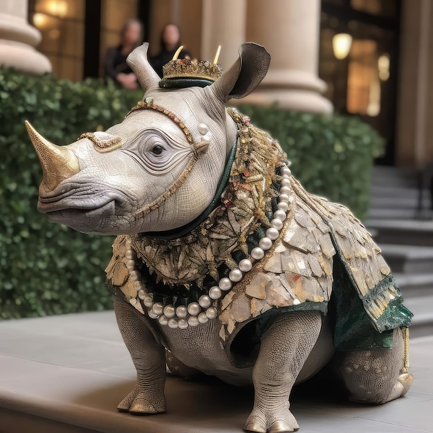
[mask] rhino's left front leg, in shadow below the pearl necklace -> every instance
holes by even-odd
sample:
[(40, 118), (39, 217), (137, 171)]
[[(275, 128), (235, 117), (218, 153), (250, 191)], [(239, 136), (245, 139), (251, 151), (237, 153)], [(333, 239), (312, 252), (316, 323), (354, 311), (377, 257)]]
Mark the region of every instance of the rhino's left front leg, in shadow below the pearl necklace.
[(133, 307), (114, 297), (120, 333), (137, 371), (136, 387), (119, 403), (118, 409), (134, 415), (165, 412), (165, 349)]

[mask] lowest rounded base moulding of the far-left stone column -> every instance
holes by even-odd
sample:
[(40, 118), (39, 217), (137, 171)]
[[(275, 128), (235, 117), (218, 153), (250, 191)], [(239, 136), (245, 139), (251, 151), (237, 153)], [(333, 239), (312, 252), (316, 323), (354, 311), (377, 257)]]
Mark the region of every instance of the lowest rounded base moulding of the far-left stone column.
[(0, 66), (30, 74), (51, 72), (48, 57), (22, 42), (0, 39)]

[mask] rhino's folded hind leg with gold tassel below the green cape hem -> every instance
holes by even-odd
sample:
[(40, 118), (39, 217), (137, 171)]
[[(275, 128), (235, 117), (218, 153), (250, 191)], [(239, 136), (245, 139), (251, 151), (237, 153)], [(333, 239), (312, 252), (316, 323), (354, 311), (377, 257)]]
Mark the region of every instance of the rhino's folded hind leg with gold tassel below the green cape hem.
[(351, 400), (380, 405), (403, 397), (412, 384), (410, 373), (401, 373), (404, 341), (400, 329), (394, 329), (392, 349), (351, 351), (344, 354), (340, 372)]

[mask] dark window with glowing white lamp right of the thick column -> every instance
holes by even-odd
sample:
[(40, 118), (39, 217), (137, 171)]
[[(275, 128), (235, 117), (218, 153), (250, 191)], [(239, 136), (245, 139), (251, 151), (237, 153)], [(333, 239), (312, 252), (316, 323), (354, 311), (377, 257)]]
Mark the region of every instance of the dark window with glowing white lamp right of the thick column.
[[(360, 116), (385, 138), (386, 154), (378, 161), (384, 164), (394, 163), (399, 3), (322, 0), (319, 75), (328, 85), (325, 96), (336, 113)], [(346, 55), (335, 50), (335, 35), (350, 39)]]

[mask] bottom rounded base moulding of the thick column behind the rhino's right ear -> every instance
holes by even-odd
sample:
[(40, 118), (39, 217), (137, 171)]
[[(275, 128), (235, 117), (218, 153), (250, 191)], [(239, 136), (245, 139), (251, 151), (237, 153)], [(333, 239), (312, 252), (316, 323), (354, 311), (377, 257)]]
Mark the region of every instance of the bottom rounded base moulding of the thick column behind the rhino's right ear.
[(331, 101), (311, 90), (302, 89), (257, 89), (241, 100), (231, 100), (234, 104), (270, 105), (277, 104), (285, 110), (308, 113), (332, 113)]

